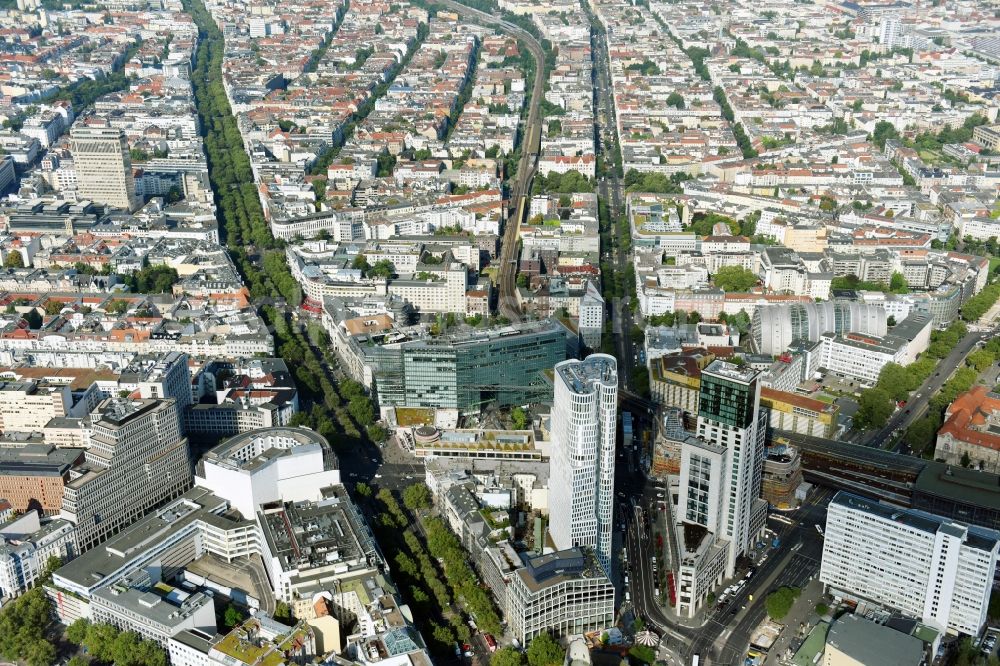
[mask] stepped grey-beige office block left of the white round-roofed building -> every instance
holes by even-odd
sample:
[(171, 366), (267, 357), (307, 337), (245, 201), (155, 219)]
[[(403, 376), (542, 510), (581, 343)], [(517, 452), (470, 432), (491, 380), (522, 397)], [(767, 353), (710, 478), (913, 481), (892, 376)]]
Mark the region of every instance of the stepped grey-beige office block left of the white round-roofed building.
[(63, 491), (62, 517), (93, 548), (191, 485), (188, 441), (172, 399), (108, 398), (90, 415), (85, 463)]

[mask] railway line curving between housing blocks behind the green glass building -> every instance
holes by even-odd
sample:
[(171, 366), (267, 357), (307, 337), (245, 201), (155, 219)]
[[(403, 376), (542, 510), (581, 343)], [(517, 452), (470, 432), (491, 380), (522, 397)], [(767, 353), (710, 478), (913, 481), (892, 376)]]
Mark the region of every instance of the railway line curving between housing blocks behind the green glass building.
[(535, 58), (535, 81), (531, 91), (528, 118), (524, 124), (524, 136), (521, 140), (521, 161), (517, 167), (517, 179), (512, 183), (510, 191), (511, 209), (515, 211), (515, 214), (507, 218), (503, 240), (500, 244), (500, 314), (511, 321), (521, 321), (521, 308), (516, 296), (517, 235), (522, 222), (521, 218), (528, 210), (527, 204), (531, 197), (531, 179), (535, 176), (538, 164), (537, 156), (542, 136), (541, 103), (545, 94), (545, 53), (538, 40), (513, 23), (452, 0), (441, 0), (440, 4), (477, 23), (496, 27), (501, 32), (520, 39)]

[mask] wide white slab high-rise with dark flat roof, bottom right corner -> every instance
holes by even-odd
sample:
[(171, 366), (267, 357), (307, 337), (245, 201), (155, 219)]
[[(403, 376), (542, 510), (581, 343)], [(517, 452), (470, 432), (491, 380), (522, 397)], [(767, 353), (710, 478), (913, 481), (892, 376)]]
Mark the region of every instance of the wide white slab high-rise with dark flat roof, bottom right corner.
[(840, 492), (827, 510), (820, 580), (951, 633), (977, 635), (1000, 533)]

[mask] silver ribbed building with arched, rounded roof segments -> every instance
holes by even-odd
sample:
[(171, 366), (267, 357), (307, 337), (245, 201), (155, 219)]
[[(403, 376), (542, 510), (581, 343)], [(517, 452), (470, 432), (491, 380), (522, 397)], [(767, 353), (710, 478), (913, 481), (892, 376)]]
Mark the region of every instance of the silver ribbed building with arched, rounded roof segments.
[(824, 333), (885, 336), (885, 309), (853, 301), (762, 305), (753, 313), (751, 337), (761, 354), (781, 354), (794, 340), (818, 342)]

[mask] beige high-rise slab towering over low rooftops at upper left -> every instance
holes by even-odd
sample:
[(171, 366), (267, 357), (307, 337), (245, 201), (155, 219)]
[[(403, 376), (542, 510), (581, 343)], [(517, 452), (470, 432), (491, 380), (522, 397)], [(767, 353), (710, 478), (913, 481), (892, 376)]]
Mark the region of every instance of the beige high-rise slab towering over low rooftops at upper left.
[(134, 211), (132, 158), (125, 134), (115, 127), (76, 127), (70, 133), (80, 199)]

